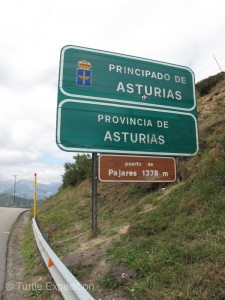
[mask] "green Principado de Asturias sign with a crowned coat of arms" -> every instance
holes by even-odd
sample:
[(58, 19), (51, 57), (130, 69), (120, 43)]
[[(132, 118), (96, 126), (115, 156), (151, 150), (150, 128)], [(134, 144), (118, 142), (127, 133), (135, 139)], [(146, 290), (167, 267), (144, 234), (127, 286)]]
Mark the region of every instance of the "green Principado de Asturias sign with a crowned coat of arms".
[(58, 102), (66, 98), (196, 115), (194, 75), (189, 68), (75, 46), (61, 51)]

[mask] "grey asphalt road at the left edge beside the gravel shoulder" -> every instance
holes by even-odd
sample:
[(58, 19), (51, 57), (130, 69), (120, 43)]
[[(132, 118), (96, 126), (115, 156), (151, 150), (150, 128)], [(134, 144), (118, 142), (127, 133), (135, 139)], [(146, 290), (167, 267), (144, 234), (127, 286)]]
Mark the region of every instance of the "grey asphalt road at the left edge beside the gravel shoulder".
[(23, 208), (0, 207), (0, 299), (5, 282), (6, 253), (10, 232)]

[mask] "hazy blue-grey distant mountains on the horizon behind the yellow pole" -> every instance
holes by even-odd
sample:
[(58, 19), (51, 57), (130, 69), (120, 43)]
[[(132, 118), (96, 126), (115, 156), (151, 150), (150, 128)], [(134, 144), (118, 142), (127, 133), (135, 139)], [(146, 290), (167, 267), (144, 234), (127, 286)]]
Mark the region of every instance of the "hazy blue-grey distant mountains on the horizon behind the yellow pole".
[[(37, 183), (37, 200), (44, 200), (46, 197), (53, 196), (58, 192), (61, 183), (53, 182), (50, 184)], [(0, 194), (14, 195), (14, 181), (0, 180)], [(25, 199), (34, 198), (34, 182), (29, 180), (17, 180), (16, 196)]]

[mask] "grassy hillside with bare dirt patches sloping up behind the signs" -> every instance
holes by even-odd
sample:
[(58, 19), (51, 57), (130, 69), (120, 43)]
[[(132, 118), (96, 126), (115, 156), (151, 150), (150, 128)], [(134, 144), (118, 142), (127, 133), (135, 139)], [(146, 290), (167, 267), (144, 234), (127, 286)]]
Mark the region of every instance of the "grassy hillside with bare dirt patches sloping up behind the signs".
[[(179, 159), (176, 183), (98, 182), (95, 234), (91, 182), (39, 206), (50, 245), (96, 299), (225, 299), (225, 74), (196, 94), (200, 150)], [(24, 253), (38, 277), (46, 270), (31, 262), (31, 236)]]

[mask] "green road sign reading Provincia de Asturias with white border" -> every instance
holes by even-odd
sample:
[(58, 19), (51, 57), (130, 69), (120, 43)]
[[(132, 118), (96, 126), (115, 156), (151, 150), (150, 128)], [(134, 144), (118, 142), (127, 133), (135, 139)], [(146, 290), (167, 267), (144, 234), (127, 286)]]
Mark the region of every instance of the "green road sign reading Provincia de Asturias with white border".
[(57, 144), (72, 152), (190, 156), (198, 151), (197, 121), (187, 112), (65, 99)]

